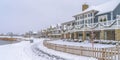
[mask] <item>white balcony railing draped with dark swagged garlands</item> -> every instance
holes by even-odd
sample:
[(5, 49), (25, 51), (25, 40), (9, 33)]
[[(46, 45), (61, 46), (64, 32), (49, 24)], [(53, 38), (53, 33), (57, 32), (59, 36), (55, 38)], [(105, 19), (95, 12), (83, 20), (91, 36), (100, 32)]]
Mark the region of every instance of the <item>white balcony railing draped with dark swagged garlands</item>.
[[(112, 27), (115, 26), (115, 27)], [(116, 26), (120, 27), (120, 19), (119, 20), (110, 20), (110, 21), (105, 21), (105, 22), (98, 22), (98, 23), (91, 23), (91, 24), (79, 24), (79, 25), (74, 25), (74, 26), (68, 26), (66, 28), (66, 31), (72, 30), (73, 28), (76, 30), (81, 30), (82, 28), (116, 28)]]

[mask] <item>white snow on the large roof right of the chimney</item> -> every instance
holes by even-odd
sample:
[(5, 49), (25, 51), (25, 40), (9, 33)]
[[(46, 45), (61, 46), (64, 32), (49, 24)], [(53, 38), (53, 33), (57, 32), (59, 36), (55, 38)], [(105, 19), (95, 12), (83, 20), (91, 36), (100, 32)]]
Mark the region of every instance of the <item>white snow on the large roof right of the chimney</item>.
[(91, 11), (91, 10), (99, 11), (97, 15), (103, 14), (106, 12), (113, 11), (119, 4), (120, 4), (120, 0), (111, 0), (110, 2), (103, 3), (101, 5), (90, 6), (88, 9), (86, 9), (85, 11), (82, 11), (80, 14)]

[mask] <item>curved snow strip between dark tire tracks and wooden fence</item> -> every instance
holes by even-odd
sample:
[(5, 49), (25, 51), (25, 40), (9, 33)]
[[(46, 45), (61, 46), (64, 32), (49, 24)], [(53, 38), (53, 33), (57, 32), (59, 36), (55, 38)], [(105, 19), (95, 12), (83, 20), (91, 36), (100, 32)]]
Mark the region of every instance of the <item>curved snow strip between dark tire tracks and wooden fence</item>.
[(49, 53), (51, 55), (56, 55), (58, 57), (66, 59), (66, 60), (97, 60), (97, 59), (90, 58), (90, 57), (77, 56), (77, 55), (72, 55), (69, 53), (64, 53), (64, 52), (59, 52), (59, 51), (55, 51), (52, 49), (48, 49), (48, 48), (43, 46), (43, 40), (41, 40), (41, 42), (37, 43), (36, 47), (39, 48), (40, 50), (46, 52), (46, 53)]

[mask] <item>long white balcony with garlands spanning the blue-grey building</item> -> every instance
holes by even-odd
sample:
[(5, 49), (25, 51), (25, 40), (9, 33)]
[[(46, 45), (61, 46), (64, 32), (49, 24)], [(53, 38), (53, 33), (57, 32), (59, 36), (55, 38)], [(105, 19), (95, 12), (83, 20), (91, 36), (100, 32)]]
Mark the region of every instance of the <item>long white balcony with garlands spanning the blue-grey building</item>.
[(85, 28), (89, 31), (89, 29), (101, 30), (101, 29), (116, 29), (120, 28), (120, 20), (110, 20), (99, 23), (91, 23), (91, 24), (79, 24), (74, 26), (67, 26), (65, 29), (66, 32), (72, 30), (83, 31)]

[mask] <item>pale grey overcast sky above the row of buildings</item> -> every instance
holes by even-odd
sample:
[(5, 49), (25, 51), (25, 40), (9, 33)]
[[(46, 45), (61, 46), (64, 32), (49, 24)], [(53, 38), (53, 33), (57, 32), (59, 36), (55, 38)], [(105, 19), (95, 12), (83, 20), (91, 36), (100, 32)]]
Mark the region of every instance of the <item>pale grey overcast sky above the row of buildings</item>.
[(110, 0), (0, 0), (0, 33), (38, 31), (73, 20), (81, 5), (99, 5)]

